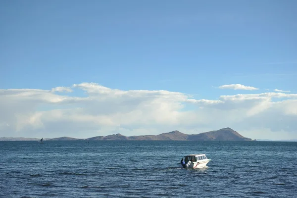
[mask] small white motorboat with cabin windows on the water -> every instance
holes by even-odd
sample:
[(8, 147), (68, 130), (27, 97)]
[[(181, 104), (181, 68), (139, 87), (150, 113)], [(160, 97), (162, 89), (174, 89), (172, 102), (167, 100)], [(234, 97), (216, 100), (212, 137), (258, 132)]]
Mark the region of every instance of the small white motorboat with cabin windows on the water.
[[(185, 168), (204, 168), (206, 164), (211, 161), (205, 154), (190, 154), (185, 156)], [(179, 163), (179, 167), (183, 168), (182, 163)]]

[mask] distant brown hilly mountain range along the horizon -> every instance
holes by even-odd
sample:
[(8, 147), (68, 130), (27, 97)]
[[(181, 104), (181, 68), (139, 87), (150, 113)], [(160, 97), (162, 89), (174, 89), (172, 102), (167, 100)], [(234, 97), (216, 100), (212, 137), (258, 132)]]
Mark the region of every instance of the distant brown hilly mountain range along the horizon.
[[(37, 138), (0, 138), (0, 141), (39, 141)], [(97, 136), (87, 139), (76, 139), (70, 137), (44, 139), (44, 141), (102, 141), (102, 140), (155, 140), (155, 141), (255, 141), (250, 138), (245, 138), (238, 132), (231, 128), (219, 129), (217, 131), (209, 131), (199, 134), (184, 134), (179, 131), (172, 131), (168, 133), (162, 133), (159, 135), (146, 135), (146, 136), (123, 136), (121, 134), (113, 134), (109, 136)]]

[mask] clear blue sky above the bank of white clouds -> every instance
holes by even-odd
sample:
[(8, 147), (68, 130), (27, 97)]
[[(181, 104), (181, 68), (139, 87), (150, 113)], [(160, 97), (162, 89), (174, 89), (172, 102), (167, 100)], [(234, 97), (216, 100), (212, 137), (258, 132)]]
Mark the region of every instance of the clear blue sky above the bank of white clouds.
[(0, 89), (94, 82), (211, 100), (251, 93), (218, 88), (230, 84), (296, 93), (296, 8), (295, 0), (1, 1)]

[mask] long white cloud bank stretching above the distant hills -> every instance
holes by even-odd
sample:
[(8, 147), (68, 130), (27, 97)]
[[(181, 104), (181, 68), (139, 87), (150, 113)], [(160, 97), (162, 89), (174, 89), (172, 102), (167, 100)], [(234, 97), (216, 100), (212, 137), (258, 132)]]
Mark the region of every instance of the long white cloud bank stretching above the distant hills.
[[(52, 90), (64, 89), (0, 90), (0, 137), (191, 134), (231, 127), (249, 138), (297, 138), (297, 94), (193, 99), (180, 92), (124, 91), (97, 83), (74, 84), (71, 96)], [(77, 90), (85, 95), (74, 97)]]

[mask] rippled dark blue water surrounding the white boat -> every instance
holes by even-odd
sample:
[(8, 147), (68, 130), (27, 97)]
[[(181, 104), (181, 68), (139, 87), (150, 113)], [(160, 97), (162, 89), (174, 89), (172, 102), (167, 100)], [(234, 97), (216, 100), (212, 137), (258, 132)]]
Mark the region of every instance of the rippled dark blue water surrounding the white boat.
[[(212, 159), (181, 169), (186, 154)], [(297, 142), (0, 142), (3, 198), (294, 198)]]

